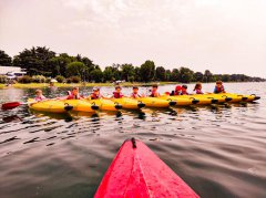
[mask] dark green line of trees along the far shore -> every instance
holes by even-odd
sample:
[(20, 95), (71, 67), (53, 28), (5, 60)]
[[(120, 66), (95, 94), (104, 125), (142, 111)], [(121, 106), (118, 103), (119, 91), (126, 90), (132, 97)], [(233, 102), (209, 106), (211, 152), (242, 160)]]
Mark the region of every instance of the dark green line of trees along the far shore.
[(194, 72), (188, 67), (176, 67), (167, 70), (156, 66), (153, 61), (145, 61), (142, 65), (112, 64), (102, 70), (98, 64), (86, 56), (75, 56), (68, 53), (55, 53), (47, 46), (24, 49), (13, 58), (0, 50), (0, 65), (20, 66), (30, 76), (43, 75), (45, 77), (78, 76), (85, 82), (114, 82), (125, 80), (127, 82), (262, 82), (262, 77), (252, 77), (245, 74), (213, 74), (209, 70), (204, 73)]

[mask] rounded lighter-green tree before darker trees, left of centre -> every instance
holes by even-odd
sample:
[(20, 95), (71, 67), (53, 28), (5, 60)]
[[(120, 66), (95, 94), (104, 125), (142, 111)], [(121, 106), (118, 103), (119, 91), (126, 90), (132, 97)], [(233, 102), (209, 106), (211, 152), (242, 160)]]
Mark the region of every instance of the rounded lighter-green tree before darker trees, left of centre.
[(82, 62), (72, 62), (66, 65), (66, 76), (80, 76), (82, 80), (84, 80), (84, 76), (86, 75), (88, 67)]

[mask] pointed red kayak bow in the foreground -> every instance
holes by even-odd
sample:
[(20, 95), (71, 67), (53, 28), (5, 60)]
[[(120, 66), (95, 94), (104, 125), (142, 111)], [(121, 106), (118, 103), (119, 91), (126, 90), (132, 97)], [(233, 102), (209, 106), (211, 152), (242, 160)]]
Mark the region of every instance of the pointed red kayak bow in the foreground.
[(125, 140), (105, 173), (94, 198), (198, 198), (141, 140)]

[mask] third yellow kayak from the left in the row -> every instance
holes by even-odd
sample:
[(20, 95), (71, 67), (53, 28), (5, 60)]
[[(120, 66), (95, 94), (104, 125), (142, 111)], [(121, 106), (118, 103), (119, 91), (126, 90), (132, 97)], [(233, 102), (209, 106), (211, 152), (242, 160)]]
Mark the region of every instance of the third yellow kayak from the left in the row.
[(117, 111), (122, 108), (122, 105), (105, 98), (89, 100), (91, 104), (95, 104), (102, 111)]

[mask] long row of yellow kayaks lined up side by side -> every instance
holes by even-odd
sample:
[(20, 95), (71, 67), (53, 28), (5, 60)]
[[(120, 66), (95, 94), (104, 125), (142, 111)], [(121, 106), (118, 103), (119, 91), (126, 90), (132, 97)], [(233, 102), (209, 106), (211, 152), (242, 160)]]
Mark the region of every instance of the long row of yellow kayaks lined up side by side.
[(49, 100), (34, 103), (33, 100), (28, 100), (29, 107), (35, 111), (64, 113), (68, 111), (78, 112), (95, 112), (101, 111), (117, 111), (124, 110), (140, 110), (142, 107), (170, 107), (170, 106), (188, 106), (192, 104), (216, 104), (216, 103), (239, 103), (253, 102), (259, 100), (256, 95), (241, 95), (241, 94), (202, 94), (202, 95), (178, 95), (168, 96), (162, 95), (160, 97), (141, 97), (137, 100), (123, 98), (100, 98), (100, 100)]

